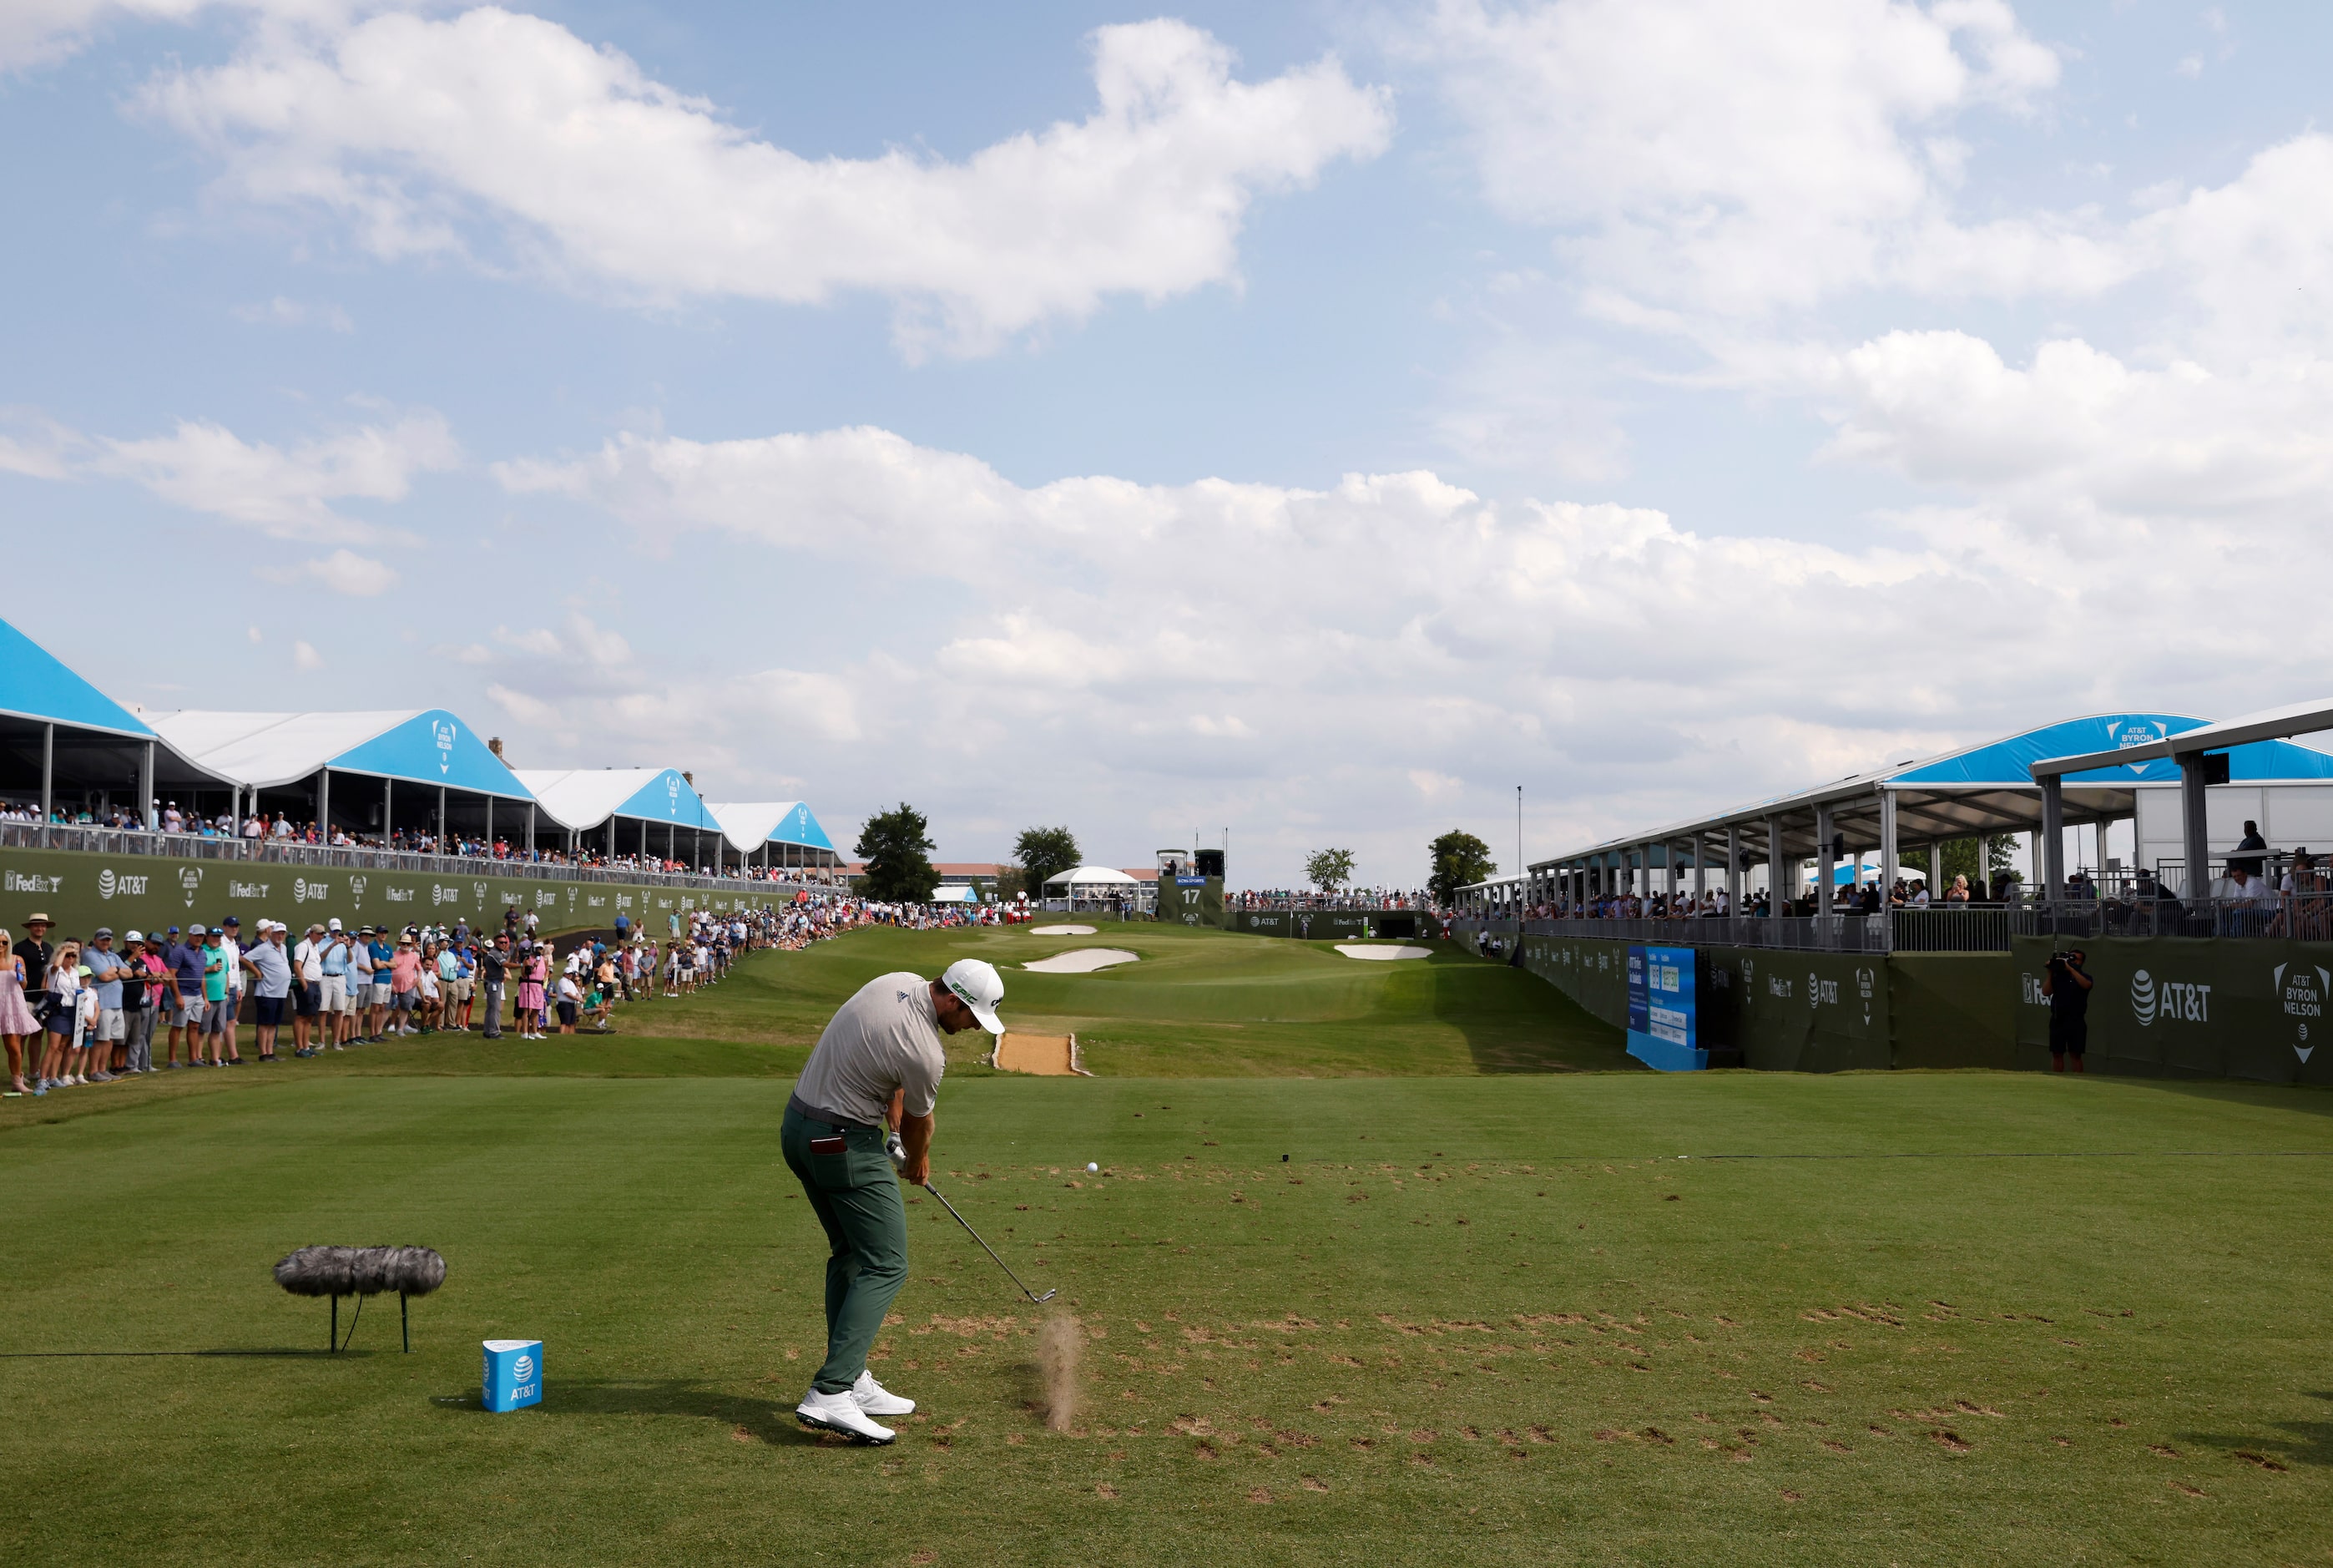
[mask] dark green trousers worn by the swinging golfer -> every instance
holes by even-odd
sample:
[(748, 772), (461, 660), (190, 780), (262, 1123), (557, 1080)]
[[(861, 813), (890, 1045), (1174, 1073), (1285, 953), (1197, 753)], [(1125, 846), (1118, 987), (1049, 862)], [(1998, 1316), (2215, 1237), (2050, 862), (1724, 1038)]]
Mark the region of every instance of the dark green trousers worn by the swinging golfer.
[[(812, 1150), (831, 1139), (842, 1148)], [(908, 1206), (873, 1127), (835, 1127), (786, 1106), (779, 1148), (826, 1227), (826, 1365), (810, 1386), (842, 1393), (868, 1370), (875, 1330), (908, 1283)]]

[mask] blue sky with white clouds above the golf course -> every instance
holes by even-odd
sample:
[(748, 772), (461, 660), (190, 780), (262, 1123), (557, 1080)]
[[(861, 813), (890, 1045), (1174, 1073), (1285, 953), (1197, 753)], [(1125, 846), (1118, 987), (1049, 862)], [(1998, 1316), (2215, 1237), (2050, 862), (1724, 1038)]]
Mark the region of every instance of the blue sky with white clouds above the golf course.
[(1248, 882), (2314, 695), (2328, 44), (33, 0), (0, 506), (121, 565), (7, 614), (149, 707)]

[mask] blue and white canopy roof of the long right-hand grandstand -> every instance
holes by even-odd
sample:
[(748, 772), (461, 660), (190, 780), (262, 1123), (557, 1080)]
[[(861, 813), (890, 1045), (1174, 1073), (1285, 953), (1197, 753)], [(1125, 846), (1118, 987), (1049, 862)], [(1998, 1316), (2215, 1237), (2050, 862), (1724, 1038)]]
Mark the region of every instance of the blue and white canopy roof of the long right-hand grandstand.
[[(1696, 856), (1724, 856), (1724, 833), (1745, 835), (1745, 852), (1766, 859), (1766, 828), (1782, 828), (1780, 852), (1810, 859), (1820, 852), (1815, 812), (1829, 812), (1831, 833), (1848, 854), (1880, 847), (1880, 800), (1894, 800), (1897, 845), (1976, 838), (1981, 833), (2025, 833), (2041, 826), (2041, 789), (2027, 768), (2058, 756), (2088, 756), (2149, 747), (2167, 735), (2181, 735), (2209, 723), (2191, 714), (2088, 714), (2062, 719), (2018, 735), (2004, 735), (1941, 756), (1908, 758), (1892, 768), (1848, 775), (1831, 784), (1752, 800), (1701, 819), (1687, 819), (1610, 838), (1544, 861), (1533, 870), (1570, 866), (1666, 866), (1670, 845), (1680, 866)], [(2256, 740), (2228, 749), (2228, 777), (2235, 784), (2328, 784), (2333, 756), (2289, 740)], [(2144, 758), (2111, 768), (2067, 775), (2067, 826), (2132, 817), (2137, 791), (2179, 784), (2179, 765)]]

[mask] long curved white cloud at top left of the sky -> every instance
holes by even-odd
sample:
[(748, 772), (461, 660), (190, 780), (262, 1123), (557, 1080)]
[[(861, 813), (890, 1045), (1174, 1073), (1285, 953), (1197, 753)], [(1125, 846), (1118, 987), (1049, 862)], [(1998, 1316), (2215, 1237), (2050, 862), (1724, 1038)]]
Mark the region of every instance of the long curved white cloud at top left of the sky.
[[(313, 42), (308, 42), (313, 40)], [(1180, 21), (1094, 33), (1094, 110), (945, 161), (805, 159), (539, 16), (268, 30), (145, 105), (259, 203), (341, 215), (385, 257), (481, 254), (644, 301), (898, 303), (915, 350), (980, 352), (1111, 294), (1236, 280), (1257, 194), (1386, 147), (1381, 89), (1334, 58), (1267, 82)], [(499, 243), (497, 243), (499, 240)]]

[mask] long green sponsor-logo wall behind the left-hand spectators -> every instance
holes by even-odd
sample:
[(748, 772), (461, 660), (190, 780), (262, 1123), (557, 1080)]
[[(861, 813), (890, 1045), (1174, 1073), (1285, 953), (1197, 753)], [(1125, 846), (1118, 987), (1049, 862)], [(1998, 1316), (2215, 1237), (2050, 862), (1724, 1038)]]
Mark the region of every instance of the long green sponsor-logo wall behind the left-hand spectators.
[(546, 931), (611, 926), (628, 915), (649, 936), (667, 936), (684, 910), (744, 910), (791, 903), (793, 889), (740, 882), (733, 891), (625, 882), (537, 877), (453, 877), (408, 870), (336, 870), (273, 861), (198, 861), (163, 854), (89, 854), (75, 849), (0, 849), (0, 924), (23, 936), (35, 910), (56, 936), (217, 924), (226, 915), (243, 933), (259, 917), (301, 931), (313, 919), (355, 924), (502, 924), (502, 910), (532, 910)]

